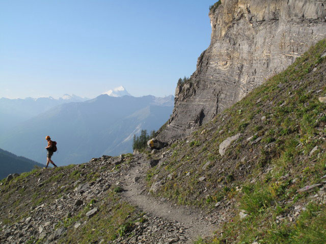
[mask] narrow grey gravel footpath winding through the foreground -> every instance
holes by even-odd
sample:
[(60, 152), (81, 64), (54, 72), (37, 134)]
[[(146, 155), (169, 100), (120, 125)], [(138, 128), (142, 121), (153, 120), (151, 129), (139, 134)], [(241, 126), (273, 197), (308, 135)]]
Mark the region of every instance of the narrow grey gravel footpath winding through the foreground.
[(193, 243), (199, 236), (211, 235), (214, 226), (205, 219), (205, 214), (200, 209), (174, 205), (167, 200), (159, 200), (148, 194), (143, 180), (137, 180), (137, 178), (144, 178), (140, 176), (144, 176), (149, 169), (146, 165), (143, 162), (139, 163), (121, 175), (120, 182), (125, 190), (122, 197), (147, 214), (167, 221), (179, 222), (186, 229), (187, 239), (192, 240), (189, 243)]

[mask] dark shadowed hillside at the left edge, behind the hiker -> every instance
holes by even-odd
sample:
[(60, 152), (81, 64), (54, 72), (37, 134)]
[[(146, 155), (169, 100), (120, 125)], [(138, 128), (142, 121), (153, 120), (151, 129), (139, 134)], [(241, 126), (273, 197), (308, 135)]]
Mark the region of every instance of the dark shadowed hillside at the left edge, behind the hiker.
[(0, 148), (0, 179), (7, 177), (9, 174), (31, 171), (35, 166), (44, 167), (45, 165), (24, 157), (18, 157)]

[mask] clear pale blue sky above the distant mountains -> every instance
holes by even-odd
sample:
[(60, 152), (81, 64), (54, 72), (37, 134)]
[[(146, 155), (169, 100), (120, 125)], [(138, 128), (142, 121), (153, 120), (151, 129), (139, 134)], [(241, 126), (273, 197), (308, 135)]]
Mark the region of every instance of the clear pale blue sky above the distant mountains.
[(0, 2), (0, 97), (174, 95), (210, 43), (208, 0)]

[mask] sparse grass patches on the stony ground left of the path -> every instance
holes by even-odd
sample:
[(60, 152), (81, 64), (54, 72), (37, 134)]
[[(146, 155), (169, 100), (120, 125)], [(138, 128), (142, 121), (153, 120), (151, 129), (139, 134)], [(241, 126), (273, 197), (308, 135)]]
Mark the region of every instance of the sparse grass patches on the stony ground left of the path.
[[(6, 184), (6, 179), (1, 180), (0, 188), (0, 220), (2, 224), (14, 224), (31, 215), (31, 209), (41, 204), (46, 208), (56, 203), (75, 189), (72, 182), (77, 180), (79, 184), (96, 181), (101, 173), (119, 172), (127, 166), (132, 155), (125, 155), (126, 161), (119, 165), (100, 166), (99, 163), (88, 163), (80, 165), (68, 165), (48, 170), (34, 169), (31, 172), (22, 173)], [(42, 186), (38, 186), (38, 179), (46, 179)], [(56, 211), (57, 225), (55, 230), (66, 227), (67, 234), (59, 239), (58, 243), (90, 243), (104, 239), (104, 243), (125, 235), (134, 222), (142, 222), (143, 212), (135, 209), (130, 204), (122, 201), (118, 196), (119, 189), (112, 187), (102, 197), (95, 197), (86, 202), (86, 205), (72, 216), (67, 214), (71, 209), (64, 208)], [(68, 200), (66, 200), (68, 201)], [(73, 206), (73, 202), (71, 202)], [(86, 212), (97, 207), (98, 213), (91, 219), (86, 217)], [(8, 215), (8, 210), (13, 214)], [(87, 224), (75, 229), (75, 223)], [(0, 228), (0, 231), (2, 229)], [(45, 240), (30, 236), (28, 243), (43, 243)]]

